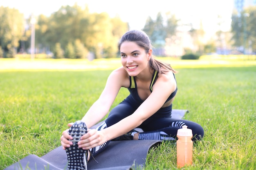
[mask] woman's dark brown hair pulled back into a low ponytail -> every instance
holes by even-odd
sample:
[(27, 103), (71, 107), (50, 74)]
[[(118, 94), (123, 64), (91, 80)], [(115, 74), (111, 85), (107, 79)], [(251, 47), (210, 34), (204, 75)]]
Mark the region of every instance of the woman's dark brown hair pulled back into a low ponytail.
[[(122, 37), (118, 45), (118, 49), (120, 51), (120, 46), (123, 42), (130, 41), (135, 42), (138, 46), (141, 46), (145, 49), (146, 53), (151, 49), (151, 43), (148, 38), (148, 35), (144, 31), (140, 30), (131, 30), (126, 32)], [(169, 64), (156, 60), (153, 56), (150, 57), (149, 60), (150, 67), (155, 69), (158, 73), (164, 74), (168, 71), (172, 71), (173, 73), (177, 73)]]

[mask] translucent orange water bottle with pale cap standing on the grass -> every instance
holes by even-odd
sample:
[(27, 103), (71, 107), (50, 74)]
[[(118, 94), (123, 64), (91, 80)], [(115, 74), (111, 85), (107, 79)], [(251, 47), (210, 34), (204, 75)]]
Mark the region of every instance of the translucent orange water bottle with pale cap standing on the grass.
[(193, 137), (192, 130), (184, 125), (178, 129), (177, 137), (177, 167), (182, 168), (185, 165), (192, 164)]

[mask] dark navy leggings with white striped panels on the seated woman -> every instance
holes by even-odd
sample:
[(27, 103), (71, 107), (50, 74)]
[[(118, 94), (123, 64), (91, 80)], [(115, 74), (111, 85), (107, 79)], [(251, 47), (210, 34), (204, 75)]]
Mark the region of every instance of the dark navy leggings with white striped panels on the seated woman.
[[(131, 95), (129, 95), (123, 102), (113, 108), (108, 118), (105, 120), (107, 126), (111, 126), (116, 124), (121, 119), (131, 115), (135, 112), (135, 110), (139, 107), (140, 104), (135, 102), (132, 99)], [(172, 105), (160, 108), (154, 115), (146, 119), (138, 128), (141, 128), (144, 132), (147, 131), (164, 131), (171, 137), (176, 138), (177, 130), (182, 128), (183, 125), (188, 126), (188, 128), (192, 129), (193, 138), (192, 140), (200, 140), (204, 135), (204, 130), (202, 126), (199, 124), (183, 120), (183, 119), (173, 119), (171, 118)]]

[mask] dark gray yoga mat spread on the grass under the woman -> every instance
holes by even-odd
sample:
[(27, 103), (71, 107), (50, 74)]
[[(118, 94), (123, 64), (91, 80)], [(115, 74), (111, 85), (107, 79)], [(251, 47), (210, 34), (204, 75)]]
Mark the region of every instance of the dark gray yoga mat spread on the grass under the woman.
[[(172, 117), (182, 119), (188, 110), (173, 110)], [(94, 126), (93, 128), (96, 128)], [(88, 170), (130, 170), (144, 166), (148, 150), (159, 140), (111, 141), (103, 152), (88, 162)], [(42, 157), (29, 155), (4, 170), (65, 170), (67, 155), (62, 146)]]

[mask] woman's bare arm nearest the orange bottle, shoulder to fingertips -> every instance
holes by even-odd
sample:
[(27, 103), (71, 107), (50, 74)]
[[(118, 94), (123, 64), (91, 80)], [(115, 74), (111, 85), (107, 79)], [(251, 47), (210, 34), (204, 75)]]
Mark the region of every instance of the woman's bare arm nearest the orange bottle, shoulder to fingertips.
[(176, 82), (173, 74), (161, 75), (153, 87), (153, 92), (132, 115), (103, 130), (90, 130), (82, 137), (84, 141), (79, 142), (80, 147), (89, 149), (99, 146), (136, 128), (148, 117), (156, 113), (175, 89)]

